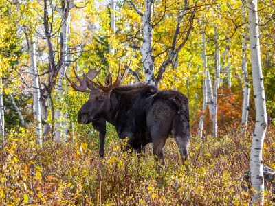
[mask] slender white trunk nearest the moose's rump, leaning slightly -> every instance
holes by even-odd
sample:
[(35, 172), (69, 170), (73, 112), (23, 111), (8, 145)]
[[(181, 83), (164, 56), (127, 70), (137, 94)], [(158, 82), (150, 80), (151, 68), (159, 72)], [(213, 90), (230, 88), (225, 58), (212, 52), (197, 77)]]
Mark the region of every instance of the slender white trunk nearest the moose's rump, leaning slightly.
[(204, 123), (204, 117), (205, 117), (205, 111), (206, 111), (206, 99), (207, 99), (207, 91), (206, 91), (206, 68), (207, 68), (207, 58), (206, 58), (206, 39), (203, 34), (203, 80), (202, 80), (202, 88), (203, 88), (203, 104), (202, 104), (202, 114), (201, 119), (199, 119), (199, 129), (198, 129), (198, 136), (202, 137), (203, 135), (203, 123)]

